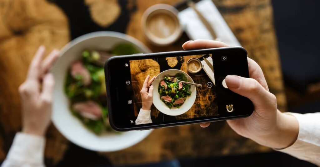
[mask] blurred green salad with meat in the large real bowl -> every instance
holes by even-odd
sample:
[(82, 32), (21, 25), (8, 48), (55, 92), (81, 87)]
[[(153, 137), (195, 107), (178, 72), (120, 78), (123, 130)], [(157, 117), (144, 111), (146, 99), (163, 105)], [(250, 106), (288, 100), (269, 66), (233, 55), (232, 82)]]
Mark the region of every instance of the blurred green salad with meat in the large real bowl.
[(65, 81), (70, 110), (95, 134), (112, 131), (108, 122), (104, 68), (97, 60), (102, 54), (111, 57), (134, 53), (139, 51), (128, 43), (118, 44), (109, 52), (84, 50), (81, 59), (70, 65)]

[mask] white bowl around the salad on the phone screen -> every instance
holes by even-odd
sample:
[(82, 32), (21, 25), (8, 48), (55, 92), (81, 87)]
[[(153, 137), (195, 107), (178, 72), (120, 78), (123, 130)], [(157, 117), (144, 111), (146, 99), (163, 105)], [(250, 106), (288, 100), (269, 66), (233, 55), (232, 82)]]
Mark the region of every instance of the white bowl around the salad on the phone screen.
[(191, 85), (190, 87), (190, 92), (191, 95), (187, 97), (187, 99), (185, 100), (185, 102), (180, 106), (180, 108), (176, 108), (176, 107), (172, 107), (171, 109), (165, 105), (164, 102), (162, 102), (160, 100), (160, 94), (158, 93), (158, 87), (159, 87), (159, 83), (161, 80), (164, 80), (165, 76), (175, 76), (177, 73), (182, 72), (184, 75), (187, 76), (188, 78), (188, 82), (192, 82), (195, 83), (192, 78), (185, 72), (181, 71), (181, 70), (176, 70), (176, 69), (170, 69), (170, 70), (166, 70), (164, 72), (161, 72), (160, 74), (158, 74), (156, 76), (156, 79), (153, 81), (152, 85), (154, 87), (153, 89), (153, 104), (155, 105), (155, 107), (162, 113), (167, 114), (167, 115), (171, 115), (171, 116), (177, 116), (177, 115), (181, 115), (185, 112), (187, 112), (188, 110), (190, 110), (190, 108), (192, 107), (192, 105), (195, 103), (196, 101), (196, 87)]

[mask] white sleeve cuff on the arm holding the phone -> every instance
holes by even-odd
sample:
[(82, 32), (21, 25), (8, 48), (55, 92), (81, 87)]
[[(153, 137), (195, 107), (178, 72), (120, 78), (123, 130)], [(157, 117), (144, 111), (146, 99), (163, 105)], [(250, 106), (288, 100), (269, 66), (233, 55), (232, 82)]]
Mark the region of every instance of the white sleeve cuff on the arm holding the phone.
[(276, 150), (320, 166), (320, 112), (287, 114), (299, 122), (298, 139), (291, 146)]

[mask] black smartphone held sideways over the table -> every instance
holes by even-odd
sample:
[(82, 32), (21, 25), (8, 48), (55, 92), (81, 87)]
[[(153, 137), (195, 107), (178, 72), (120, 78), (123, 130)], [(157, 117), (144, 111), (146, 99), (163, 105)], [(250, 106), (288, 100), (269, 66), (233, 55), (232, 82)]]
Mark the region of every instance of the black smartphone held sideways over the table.
[(227, 75), (249, 77), (242, 47), (115, 56), (104, 70), (116, 131), (244, 118), (253, 111), (248, 98), (225, 84)]

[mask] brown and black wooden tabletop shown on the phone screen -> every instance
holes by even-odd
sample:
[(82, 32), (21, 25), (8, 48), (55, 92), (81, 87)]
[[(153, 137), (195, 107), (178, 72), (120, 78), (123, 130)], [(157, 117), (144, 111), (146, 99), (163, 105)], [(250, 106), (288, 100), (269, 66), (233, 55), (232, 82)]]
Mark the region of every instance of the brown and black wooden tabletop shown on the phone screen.
[[(207, 87), (208, 82), (212, 82), (206, 75), (204, 70), (192, 74), (187, 70), (187, 62), (190, 58), (200, 58), (203, 55), (184, 56), (184, 57), (168, 57), (162, 59), (146, 59), (130, 61), (130, 69), (132, 76), (132, 89), (134, 92), (134, 110), (135, 116), (138, 116), (139, 110), (142, 107), (140, 90), (143, 81), (147, 75), (157, 76), (160, 72), (169, 69), (177, 69), (186, 72), (195, 83), (202, 84), (203, 87), (196, 87), (196, 101), (190, 110), (178, 116), (163, 115), (154, 105), (151, 107), (151, 115), (153, 122), (158, 120), (175, 120), (209, 117), (218, 115), (215, 86)], [(146, 70), (148, 69), (148, 70)], [(161, 70), (160, 70), (161, 69)], [(157, 88), (157, 87), (155, 87)]]

